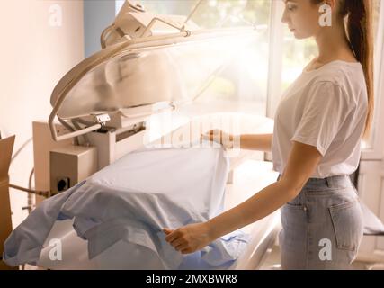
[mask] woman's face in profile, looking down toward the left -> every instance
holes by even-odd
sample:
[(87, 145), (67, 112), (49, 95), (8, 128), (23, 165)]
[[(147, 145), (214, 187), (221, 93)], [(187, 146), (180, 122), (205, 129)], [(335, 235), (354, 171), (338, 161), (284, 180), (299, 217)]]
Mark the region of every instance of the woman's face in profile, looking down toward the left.
[(312, 0), (282, 0), (285, 4), (282, 23), (286, 23), (297, 39), (317, 35), (319, 25), (319, 6)]

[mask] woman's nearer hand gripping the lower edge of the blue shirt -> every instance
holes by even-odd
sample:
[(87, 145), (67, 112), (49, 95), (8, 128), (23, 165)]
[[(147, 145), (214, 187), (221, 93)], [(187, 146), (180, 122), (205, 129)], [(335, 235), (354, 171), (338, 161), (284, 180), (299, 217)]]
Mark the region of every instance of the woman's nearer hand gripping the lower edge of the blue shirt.
[(163, 229), (165, 240), (182, 254), (193, 253), (206, 247), (212, 238), (207, 222), (183, 226), (179, 229)]

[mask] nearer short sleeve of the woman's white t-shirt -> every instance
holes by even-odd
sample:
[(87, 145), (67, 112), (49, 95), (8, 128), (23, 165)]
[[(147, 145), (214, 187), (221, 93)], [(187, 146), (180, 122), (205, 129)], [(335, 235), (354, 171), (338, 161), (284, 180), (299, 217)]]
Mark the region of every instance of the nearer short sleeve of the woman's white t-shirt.
[(314, 84), (291, 141), (314, 146), (324, 157), (351, 111), (351, 99), (332, 82)]

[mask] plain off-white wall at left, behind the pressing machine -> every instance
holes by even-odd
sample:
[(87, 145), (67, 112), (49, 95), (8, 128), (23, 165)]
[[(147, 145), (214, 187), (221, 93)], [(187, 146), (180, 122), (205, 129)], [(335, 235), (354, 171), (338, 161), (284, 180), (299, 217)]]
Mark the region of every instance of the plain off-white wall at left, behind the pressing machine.
[[(54, 86), (84, 58), (83, 36), (83, 1), (0, 1), (0, 128), (16, 135), (14, 150), (31, 138), (31, 121), (48, 120)], [(30, 143), (11, 183), (26, 186), (32, 167)], [(26, 195), (11, 191), (13, 226), (26, 216)]]

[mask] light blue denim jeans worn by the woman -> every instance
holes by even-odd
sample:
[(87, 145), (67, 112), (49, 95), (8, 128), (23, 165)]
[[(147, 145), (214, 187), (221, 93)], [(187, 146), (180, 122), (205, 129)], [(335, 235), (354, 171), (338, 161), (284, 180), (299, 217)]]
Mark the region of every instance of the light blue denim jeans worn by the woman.
[(281, 224), (282, 269), (349, 269), (363, 233), (362, 209), (349, 176), (310, 178), (281, 207)]

